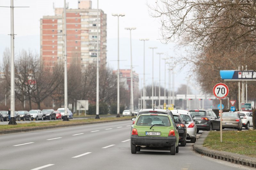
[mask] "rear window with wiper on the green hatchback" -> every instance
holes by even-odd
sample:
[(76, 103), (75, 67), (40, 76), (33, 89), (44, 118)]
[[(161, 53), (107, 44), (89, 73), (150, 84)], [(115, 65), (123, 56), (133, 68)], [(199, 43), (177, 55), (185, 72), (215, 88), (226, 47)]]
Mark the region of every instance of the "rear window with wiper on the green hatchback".
[(159, 126), (171, 126), (169, 118), (160, 115), (141, 115), (136, 123), (138, 126), (152, 126), (154, 124), (160, 124)]

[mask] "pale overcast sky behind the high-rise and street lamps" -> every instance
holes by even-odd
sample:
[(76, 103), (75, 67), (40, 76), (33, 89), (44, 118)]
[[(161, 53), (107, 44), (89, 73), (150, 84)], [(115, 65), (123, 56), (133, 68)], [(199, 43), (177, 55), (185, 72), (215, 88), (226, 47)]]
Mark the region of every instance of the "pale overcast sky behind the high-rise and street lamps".
[[(32, 49), (40, 52), (40, 18), (44, 15), (54, 15), (53, 3), (55, 7), (63, 7), (63, 0), (14, 0), (14, 6), (29, 6), (29, 8), (14, 8), (14, 33), (15, 53), (20, 49)], [(66, 0), (69, 8), (76, 9), (78, 0)], [(159, 56), (157, 52), (163, 52), (173, 57), (179, 57), (183, 50), (177, 48), (177, 44), (162, 44), (159, 28), (161, 23), (159, 18), (152, 18), (148, 13), (149, 4), (154, 4), (153, 0), (99, 0), (99, 8), (107, 14), (107, 61), (112, 68), (117, 68), (117, 17), (112, 13), (124, 13), (125, 16), (119, 20), (120, 28), (120, 69), (130, 69), (130, 34), (124, 27), (136, 27), (132, 31), (132, 57), (134, 70), (139, 73), (140, 80), (143, 73), (143, 42), (140, 38), (149, 38), (146, 42), (146, 78), (147, 84), (152, 82), (152, 50), (148, 47), (157, 47), (154, 53), (154, 77), (159, 81)], [(10, 0), (0, 0), (0, 6), (10, 6)], [(92, 8), (97, 8), (97, 0), (92, 0)], [(5, 47), (10, 47), (10, 8), (0, 8), (0, 56)], [(183, 54), (184, 55), (184, 54)], [(161, 84), (164, 80), (164, 60), (161, 60)], [(181, 70), (181, 71), (180, 71)], [(188, 69), (181, 69), (177, 66), (175, 76), (176, 88), (180, 84), (186, 84)], [(168, 77), (166, 77), (168, 78)], [(168, 81), (167, 81), (168, 82)]]

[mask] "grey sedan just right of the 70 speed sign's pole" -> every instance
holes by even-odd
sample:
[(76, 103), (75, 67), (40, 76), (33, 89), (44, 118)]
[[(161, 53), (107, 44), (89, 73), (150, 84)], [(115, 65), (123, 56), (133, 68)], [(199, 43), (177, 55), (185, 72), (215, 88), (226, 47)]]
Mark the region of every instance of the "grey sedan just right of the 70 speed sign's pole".
[(229, 128), (229, 129), (237, 129), (242, 130), (243, 129), (243, 123), (242, 123), (242, 117), (238, 115), (238, 113), (232, 113), (232, 112), (224, 112), (222, 113), (222, 129)]

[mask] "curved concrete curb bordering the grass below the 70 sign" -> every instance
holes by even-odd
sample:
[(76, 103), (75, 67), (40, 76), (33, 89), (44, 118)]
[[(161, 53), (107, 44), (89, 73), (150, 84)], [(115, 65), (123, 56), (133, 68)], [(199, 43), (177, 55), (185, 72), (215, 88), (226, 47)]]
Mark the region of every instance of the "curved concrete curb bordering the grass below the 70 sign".
[(208, 136), (209, 132), (210, 131), (204, 131), (201, 134), (201, 136), (196, 140), (196, 143), (193, 145), (194, 151), (211, 158), (221, 159), (228, 162), (256, 168), (256, 158), (240, 155), (237, 153), (230, 153), (225, 151), (214, 151), (204, 147), (203, 146), (204, 139)]

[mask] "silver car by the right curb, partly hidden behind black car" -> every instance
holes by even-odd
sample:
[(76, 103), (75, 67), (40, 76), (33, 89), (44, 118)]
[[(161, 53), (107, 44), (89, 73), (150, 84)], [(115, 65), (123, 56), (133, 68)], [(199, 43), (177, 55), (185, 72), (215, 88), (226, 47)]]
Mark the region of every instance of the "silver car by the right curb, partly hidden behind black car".
[(188, 124), (186, 124), (187, 126), (187, 139), (190, 140), (191, 143), (195, 143), (196, 142), (196, 124), (198, 124), (199, 122), (196, 121), (194, 122), (192, 115), (187, 111), (187, 110), (171, 110), (172, 113), (179, 113), (182, 117), (182, 119), (186, 122), (188, 122)]

